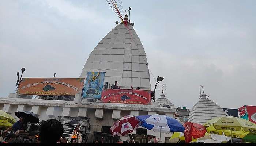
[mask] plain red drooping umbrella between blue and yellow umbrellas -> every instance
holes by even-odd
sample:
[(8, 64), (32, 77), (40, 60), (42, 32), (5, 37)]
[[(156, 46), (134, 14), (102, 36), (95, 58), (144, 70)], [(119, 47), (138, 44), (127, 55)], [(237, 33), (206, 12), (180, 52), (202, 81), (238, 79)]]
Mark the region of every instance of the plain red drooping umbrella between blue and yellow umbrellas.
[(195, 139), (204, 137), (204, 134), (207, 132), (203, 125), (197, 123), (185, 122), (183, 126), (185, 127), (184, 137), (186, 143), (191, 142), (192, 137)]

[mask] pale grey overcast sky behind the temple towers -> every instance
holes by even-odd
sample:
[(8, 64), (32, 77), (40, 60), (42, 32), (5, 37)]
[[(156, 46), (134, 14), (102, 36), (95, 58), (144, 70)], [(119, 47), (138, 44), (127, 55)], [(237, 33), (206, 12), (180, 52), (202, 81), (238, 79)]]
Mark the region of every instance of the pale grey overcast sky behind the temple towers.
[[(192, 108), (199, 85), (222, 108), (256, 105), (256, 0), (122, 2), (175, 107)], [(21, 67), (23, 77), (79, 78), (115, 21), (105, 0), (1, 0), (0, 97), (14, 93)]]

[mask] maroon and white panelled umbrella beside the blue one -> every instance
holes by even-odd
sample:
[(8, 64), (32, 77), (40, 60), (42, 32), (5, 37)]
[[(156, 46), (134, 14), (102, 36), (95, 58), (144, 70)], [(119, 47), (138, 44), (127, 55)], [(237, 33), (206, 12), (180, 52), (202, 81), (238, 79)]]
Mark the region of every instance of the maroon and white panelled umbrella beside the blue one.
[(113, 136), (124, 136), (125, 134), (132, 133), (139, 127), (139, 121), (133, 115), (128, 115), (120, 118), (110, 128)]

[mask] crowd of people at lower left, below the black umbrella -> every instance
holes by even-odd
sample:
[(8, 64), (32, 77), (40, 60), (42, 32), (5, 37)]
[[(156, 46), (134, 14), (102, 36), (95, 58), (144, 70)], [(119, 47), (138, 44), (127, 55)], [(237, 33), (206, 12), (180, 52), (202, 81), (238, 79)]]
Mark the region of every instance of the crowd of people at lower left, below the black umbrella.
[[(0, 135), (0, 143), (61, 143), (63, 126), (56, 119), (43, 121), (39, 125), (38, 132), (26, 132), (27, 122), (24, 117), (15, 122)], [(9, 132), (8, 131), (12, 131)]]

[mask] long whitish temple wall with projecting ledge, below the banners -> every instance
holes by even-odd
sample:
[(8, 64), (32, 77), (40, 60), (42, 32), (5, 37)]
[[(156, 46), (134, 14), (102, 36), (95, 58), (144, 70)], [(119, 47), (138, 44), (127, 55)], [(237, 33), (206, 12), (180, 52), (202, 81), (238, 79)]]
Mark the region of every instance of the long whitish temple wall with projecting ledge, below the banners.
[[(90, 123), (90, 132), (101, 132), (102, 126), (112, 126), (114, 122), (126, 115), (165, 114), (173, 116), (174, 108), (163, 108), (155, 105), (132, 105), (115, 103), (89, 103), (76, 101), (58, 101), (41, 99), (1, 98), (0, 110), (17, 118), (14, 113), (20, 110), (32, 111), (41, 120), (56, 118), (57, 116), (87, 117)], [(143, 127), (139, 127), (143, 128)], [(136, 132), (133, 132), (136, 134)], [(147, 130), (147, 135), (155, 135), (159, 140), (159, 133)], [(171, 134), (161, 134), (161, 141)]]

